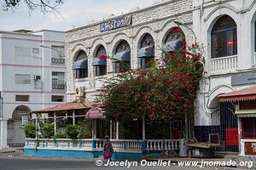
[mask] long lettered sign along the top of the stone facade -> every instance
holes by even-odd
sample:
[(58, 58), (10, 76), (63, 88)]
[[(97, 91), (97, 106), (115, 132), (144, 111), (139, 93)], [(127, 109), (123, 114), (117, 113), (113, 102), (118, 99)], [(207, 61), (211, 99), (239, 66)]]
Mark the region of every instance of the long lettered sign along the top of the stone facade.
[(100, 31), (114, 30), (123, 26), (131, 25), (131, 15), (123, 16), (115, 20), (109, 20), (100, 24)]

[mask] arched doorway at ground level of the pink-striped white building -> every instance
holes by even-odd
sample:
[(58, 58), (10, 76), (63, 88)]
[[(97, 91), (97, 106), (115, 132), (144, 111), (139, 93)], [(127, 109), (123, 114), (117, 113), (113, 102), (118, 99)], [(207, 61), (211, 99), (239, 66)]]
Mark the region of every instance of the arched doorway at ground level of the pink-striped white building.
[(22, 146), (25, 144), (26, 137), (22, 126), (25, 125), (28, 119), (29, 111), (31, 110), (26, 105), (19, 105), (13, 111), (12, 118), (8, 121), (7, 143), (9, 146)]

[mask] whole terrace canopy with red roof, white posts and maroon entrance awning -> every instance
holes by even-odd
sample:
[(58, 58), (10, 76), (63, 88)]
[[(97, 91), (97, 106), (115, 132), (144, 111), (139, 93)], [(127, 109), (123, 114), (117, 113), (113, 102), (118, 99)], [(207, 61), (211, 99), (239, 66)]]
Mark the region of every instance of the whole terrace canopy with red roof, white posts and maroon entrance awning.
[[(55, 105), (53, 107), (49, 107), (43, 110), (39, 111), (31, 111), (31, 114), (36, 114), (36, 126), (38, 124), (38, 115), (43, 113), (48, 113), (49, 116), (48, 119), (54, 119), (54, 125), (55, 125), (55, 134), (56, 134), (56, 119), (57, 118), (73, 118), (73, 125), (75, 124), (76, 117), (84, 117), (85, 119), (104, 119), (105, 117), (102, 116), (101, 111), (99, 111), (96, 106), (101, 106), (99, 103), (92, 103), (92, 102), (85, 102), (85, 103), (67, 103), (64, 105)], [(71, 113), (70, 115), (69, 113)], [(98, 114), (98, 116), (94, 115), (87, 116), (88, 114)], [(50, 115), (53, 113), (52, 115)], [(85, 114), (86, 113), (86, 114)], [(65, 114), (65, 115), (63, 115)], [(45, 117), (46, 118), (46, 117)], [(40, 118), (39, 118), (40, 119)], [(44, 119), (44, 118), (43, 118)], [(93, 134), (92, 136), (96, 136), (94, 130), (96, 130), (96, 125), (93, 125), (95, 128), (93, 128)], [(38, 127), (38, 126), (37, 126)]]

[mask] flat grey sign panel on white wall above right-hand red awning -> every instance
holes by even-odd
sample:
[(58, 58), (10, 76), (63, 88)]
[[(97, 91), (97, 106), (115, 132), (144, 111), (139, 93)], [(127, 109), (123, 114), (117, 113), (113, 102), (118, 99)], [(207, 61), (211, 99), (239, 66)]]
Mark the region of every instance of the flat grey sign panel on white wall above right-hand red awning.
[(256, 83), (256, 74), (231, 77), (231, 85), (242, 85)]

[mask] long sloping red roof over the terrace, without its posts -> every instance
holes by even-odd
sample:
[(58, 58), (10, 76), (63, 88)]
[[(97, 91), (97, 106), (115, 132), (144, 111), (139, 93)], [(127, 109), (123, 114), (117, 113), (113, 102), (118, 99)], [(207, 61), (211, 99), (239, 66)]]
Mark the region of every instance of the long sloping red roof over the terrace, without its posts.
[(81, 103), (67, 103), (64, 105), (55, 105), (53, 107), (49, 107), (39, 111), (31, 111), (31, 113), (47, 113), (52, 111), (69, 111), (69, 110), (80, 110), (80, 109), (90, 109), (93, 103), (86, 102), (84, 104)]

